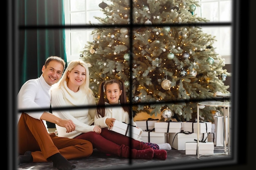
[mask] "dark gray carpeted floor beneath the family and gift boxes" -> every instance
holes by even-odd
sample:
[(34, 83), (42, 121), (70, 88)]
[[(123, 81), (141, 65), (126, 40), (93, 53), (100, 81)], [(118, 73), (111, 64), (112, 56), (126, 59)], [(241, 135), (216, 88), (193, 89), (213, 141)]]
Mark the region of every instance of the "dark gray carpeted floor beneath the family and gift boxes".
[[(167, 151), (167, 159), (123, 159), (115, 156), (107, 156), (104, 153), (94, 149), (92, 155), (88, 158), (70, 160), (76, 165), (74, 170), (135, 170), (135, 169), (191, 169), (203, 165), (205, 162), (209, 162), (205, 167), (212, 167), (216, 165), (216, 162), (229, 161), (230, 155), (218, 155), (218, 153), (224, 153), (223, 149), (215, 149), (216, 155), (204, 155), (199, 158), (197, 155), (185, 155), (185, 150), (169, 150)], [(216, 160), (216, 161), (215, 161)], [(52, 166), (52, 162), (46, 163), (22, 163), (18, 166), (18, 170), (57, 170)]]

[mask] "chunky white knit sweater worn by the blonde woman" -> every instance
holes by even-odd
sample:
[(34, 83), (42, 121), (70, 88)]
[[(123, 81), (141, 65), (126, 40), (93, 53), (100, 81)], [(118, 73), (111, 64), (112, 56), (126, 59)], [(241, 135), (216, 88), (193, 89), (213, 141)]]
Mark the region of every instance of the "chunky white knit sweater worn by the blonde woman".
[[(94, 125), (92, 124), (94, 122), (96, 108), (86, 108), (86, 106), (96, 106), (92, 91), (89, 94), (85, 94), (81, 89), (73, 92), (67, 87), (67, 83), (65, 82), (61, 88), (56, 88), (56, 86), (51, 88), (51, 97), (52, 113), (62, 119), (70, 119), (76, 125), (75, 130), (69, 133), (66, 132), (66, 128), (56, 125), (59, 137), (74, 138), (81, 133), (93, 131)], [(54, 110), (54, 108), (62, 106), (73, 106), (74, 108), (76, 106), (85, 106), (85, 108)]]

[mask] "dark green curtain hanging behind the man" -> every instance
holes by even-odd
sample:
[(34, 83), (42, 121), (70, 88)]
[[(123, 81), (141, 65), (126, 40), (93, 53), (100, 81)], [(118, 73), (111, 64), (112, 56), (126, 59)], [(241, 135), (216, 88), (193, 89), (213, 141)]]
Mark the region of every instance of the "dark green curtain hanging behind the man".
[(63, 0), (19, 0), (19, 88), (40, 77), (47, 57), (65, 60)]

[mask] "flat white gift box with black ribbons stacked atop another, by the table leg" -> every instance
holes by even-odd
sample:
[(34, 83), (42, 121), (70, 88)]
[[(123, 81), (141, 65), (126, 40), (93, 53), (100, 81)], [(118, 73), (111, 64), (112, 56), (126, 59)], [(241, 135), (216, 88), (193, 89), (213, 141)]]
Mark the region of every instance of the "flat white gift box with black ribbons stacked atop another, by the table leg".
[[(211, 127), (212, 127), (211, 122), (199, 122), (199, 133), (209, 133), (211, 132)], [(197, 122), (187, 122), (187, 121), (182, 122), (181, 130), (184, 130), (184, 132), (197, 133), (198, 132), (197, 129), (198, 129)]]

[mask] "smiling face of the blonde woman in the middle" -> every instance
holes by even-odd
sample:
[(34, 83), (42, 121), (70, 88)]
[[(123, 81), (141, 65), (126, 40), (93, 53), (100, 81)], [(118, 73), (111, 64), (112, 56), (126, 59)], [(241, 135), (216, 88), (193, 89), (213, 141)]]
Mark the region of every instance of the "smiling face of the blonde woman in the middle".
[(85, 82), (86, 70), (83, 66), (77, 65), (67, 73), (67, 77), (69, 77), (67, 86), (73, 91), (78, 91), (79, 86)]

